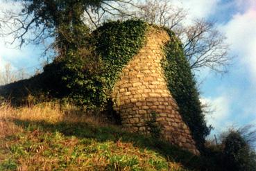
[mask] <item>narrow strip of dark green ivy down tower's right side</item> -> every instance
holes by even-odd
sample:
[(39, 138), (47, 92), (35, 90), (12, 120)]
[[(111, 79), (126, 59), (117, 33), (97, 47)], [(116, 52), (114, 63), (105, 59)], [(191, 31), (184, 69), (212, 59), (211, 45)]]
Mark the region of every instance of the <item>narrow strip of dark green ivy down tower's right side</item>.
[(210, 127), (205, 123), (205, 116), (200, 106), (199, 93), (194, 75), (189, 68), (182, 44), (171, 30), (167, 30), (171, 41), (165, 47), (166, 59), (162, 67), (167, 78), (168, 88), (178, 103), (182, 119), (189, 126), (197, 147), (202, 150), (205, 136), (210, 134)]

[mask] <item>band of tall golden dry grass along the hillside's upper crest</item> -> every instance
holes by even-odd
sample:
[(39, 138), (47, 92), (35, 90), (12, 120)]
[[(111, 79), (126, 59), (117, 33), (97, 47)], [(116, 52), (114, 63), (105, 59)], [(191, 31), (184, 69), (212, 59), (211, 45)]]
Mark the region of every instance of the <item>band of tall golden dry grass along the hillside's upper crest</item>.
[(44, 102), (33, 106), (12, 107), (9, 102), (0, 103), (0, 138), (22, 132), (13, 120), (44, 121), (46, 123), (91, 123), (109, 125), (100, 114), (89, 114), (74, 105)]

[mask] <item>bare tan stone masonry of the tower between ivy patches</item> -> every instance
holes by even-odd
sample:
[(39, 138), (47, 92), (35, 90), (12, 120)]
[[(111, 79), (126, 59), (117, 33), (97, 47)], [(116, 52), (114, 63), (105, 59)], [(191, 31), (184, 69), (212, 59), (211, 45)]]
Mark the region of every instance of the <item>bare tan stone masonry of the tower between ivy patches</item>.
[(148, 30), (146, 45), (123, 68), (114, 86), (114, 110), (120, 114), (124, 129), (142, 134), (149, 134), (146, 121), (155, 112), (162, 138), (199, 154), (164, 78), (162, 48), (169, 39), (167, 32), (162, 29), (151, 27)]

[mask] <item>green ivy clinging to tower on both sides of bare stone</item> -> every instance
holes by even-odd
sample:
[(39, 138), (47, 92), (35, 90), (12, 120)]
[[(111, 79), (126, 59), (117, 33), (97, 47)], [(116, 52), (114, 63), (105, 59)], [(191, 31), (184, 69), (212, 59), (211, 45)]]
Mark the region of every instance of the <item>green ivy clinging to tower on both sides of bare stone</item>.
[[(112, 90), (123, 66), (144, 45), (147, 28), (148, 24), (143, 21), (112, 21), (94, 32), (95, 50), (104, 64), (103, 75), (108, 90)], [(168, 88), (178, 103), (182, 119), (191, 129), (198, 148), (202, 149), (205, 136), (210, 134), (210, 127), (205, 123), (196, 81), (183, 53), (182, 43), (171, 30), (167, 32), (171, 41), (164, 49), (166, 58), (162, 60), (162, 67)]]

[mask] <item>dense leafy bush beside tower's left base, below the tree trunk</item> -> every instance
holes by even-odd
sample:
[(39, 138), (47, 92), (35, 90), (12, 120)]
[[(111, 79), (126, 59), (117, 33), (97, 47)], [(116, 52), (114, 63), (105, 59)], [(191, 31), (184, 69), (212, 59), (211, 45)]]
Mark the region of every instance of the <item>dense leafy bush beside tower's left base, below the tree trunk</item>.
[[(101, 63), (93, 60), (96, 58), (83, 48), (69, 51), (66, 57), (44, 67), (44, 90), (87, 109), (101, 107), (105, 102), (105, 79), (101, 75)], [(97, 64), (98, 69), (94, 69), (96, 66), (90, 65), (92, 63)]]

